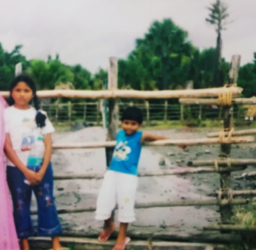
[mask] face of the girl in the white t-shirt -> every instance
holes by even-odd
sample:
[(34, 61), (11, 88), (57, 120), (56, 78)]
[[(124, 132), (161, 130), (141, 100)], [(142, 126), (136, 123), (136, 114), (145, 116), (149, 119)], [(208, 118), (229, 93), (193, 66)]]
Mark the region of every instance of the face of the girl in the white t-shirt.
[(17, 109), (29, 109), (28, 104), (33, 97), (33, 91), (25, 82), (19, 82), (11, 93), (14, 99), (14, 107)]

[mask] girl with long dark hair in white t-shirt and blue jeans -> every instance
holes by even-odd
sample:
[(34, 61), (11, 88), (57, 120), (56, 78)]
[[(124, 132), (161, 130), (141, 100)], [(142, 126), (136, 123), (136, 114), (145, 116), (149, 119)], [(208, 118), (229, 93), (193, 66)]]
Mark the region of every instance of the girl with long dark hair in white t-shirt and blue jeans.
[[(34, 107), (30, 103), (34, 103)], [(54, 128), (45, 113), (38, 111), (38, 97), (32, 78), (24, 75), (14, 78), (9, 105), (12, 106), (5, 109), (7, 182), (22, 250), (29, 250), (28, 237), (34, 236), (30, 218), (32, 190), (38, 203), (38, 235), (51, 237), (53, 249), (61, 250), (59, 235), (62, 229), (53, 201), (50, 162)]]

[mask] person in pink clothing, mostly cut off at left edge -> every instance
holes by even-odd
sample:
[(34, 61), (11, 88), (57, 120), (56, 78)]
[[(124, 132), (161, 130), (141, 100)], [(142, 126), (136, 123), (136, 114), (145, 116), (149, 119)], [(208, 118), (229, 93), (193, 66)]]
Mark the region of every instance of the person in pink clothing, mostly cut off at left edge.
[(16, 235), (13, 211), (6, 182), (5, 166), (3, 162), (3, 146), (5, 144), (5, 124), (3, 120), (3, 111), (8, 107), (5, 100), (0, 95), (0, 249), (19, 250), (18, 238)]

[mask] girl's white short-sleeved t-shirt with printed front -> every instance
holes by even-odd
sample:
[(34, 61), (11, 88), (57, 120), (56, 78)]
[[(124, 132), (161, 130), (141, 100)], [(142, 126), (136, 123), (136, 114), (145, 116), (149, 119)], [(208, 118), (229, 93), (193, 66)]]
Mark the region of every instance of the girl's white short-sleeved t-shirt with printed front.
[[(45, 126), (38, 128), (36, 125), (36, 109), (16, 109), (14, 106), (5, 109), (5, 132), (10, 134), (13, 149), (16, 155), (26, 166), (28, 155), (32, 149), (34, 142), (43, 143), (45, 134), (53, 133), (55, 129), (48, 118), (45, 120)], [(46, 115), (44, 111), (41, 111)], [(41, 145), (42, 146), (42, 145)], [(40, 146), (40, 147), (41, 147)], [(44, 147), (44, 144), (43, 146)], [(7, 159), (8, 166), (14, 166), (13, 162)]]

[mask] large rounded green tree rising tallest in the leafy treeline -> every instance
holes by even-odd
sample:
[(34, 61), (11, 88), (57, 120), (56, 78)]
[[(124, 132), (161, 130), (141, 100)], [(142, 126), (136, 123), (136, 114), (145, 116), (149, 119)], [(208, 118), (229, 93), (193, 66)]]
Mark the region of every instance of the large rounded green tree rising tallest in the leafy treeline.
[[(168, 89), (184, 82), (184, 70), (191, 60), (193, 46), (186, 41), (187, 32), (170, 19), (155, 21), (127, 61), (118, 62), (118, 87), (133, 89)], [(175, 85), (174, 84), (174, 85)]]

